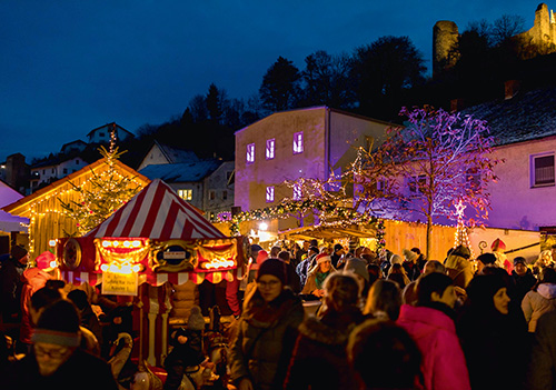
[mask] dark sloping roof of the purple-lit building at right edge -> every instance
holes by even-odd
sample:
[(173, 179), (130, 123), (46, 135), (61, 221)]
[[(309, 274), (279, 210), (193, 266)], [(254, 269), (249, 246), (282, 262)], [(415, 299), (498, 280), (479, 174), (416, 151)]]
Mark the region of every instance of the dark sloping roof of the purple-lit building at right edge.
[(556, 136), (556, 87), (518, 92), (460, 111), (487, 121), (495, 146)]

